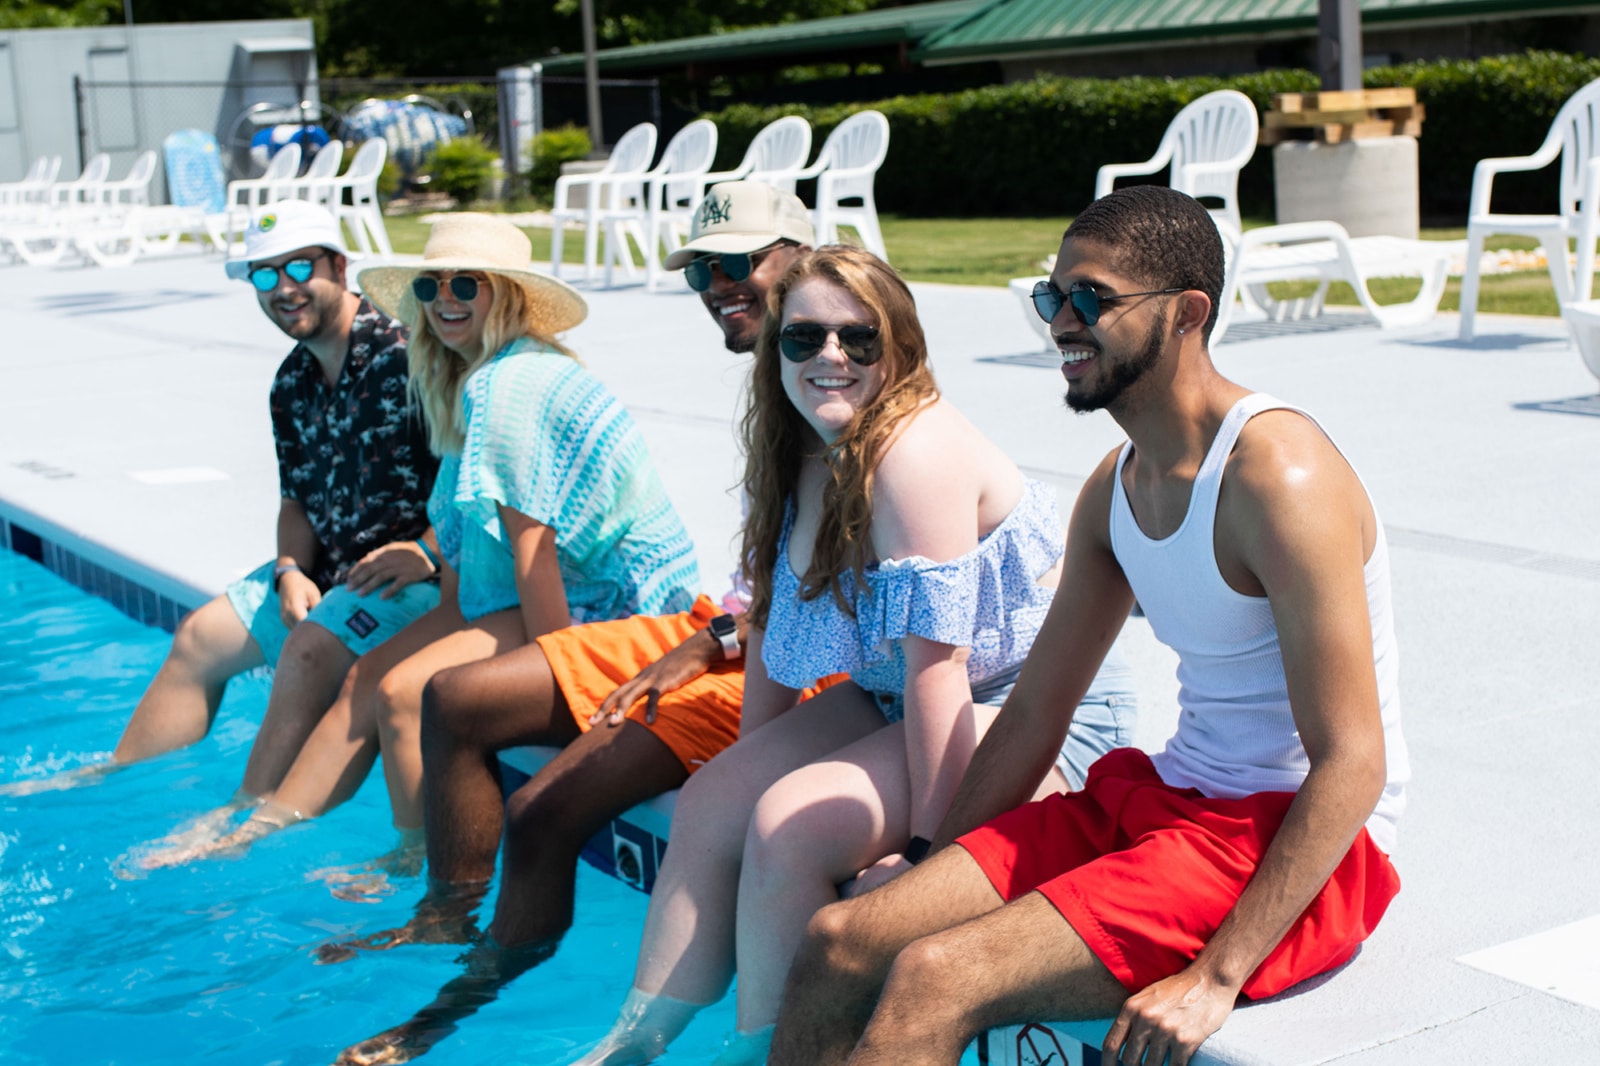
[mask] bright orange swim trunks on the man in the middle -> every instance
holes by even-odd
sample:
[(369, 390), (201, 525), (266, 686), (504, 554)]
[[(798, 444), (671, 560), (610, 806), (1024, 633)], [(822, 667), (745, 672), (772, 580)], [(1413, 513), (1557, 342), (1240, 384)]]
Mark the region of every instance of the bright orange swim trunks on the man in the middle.
[[(578, 728), (589, 731), (589, 719), (618, 685), (632, 680), (686, 637), (722, 615), (710, 597), (699, 597), (680, 615), (635, 615), (618, 621), (571, 626), (539, 637), (539, 648), (550, 664), (555, 683), (573, 709)], [(829, 682), (808, 688), (802, 699)], [(709, 671), (669, 693), (656, 704), (654, 723), (645, 723), (645, 701), (635, 703), (627, 717), (638, 722), (672, 749), (688, 773), (694, 773), (739, 739), (739, 706), (744, 701), (744, 659), (714, 663)]]

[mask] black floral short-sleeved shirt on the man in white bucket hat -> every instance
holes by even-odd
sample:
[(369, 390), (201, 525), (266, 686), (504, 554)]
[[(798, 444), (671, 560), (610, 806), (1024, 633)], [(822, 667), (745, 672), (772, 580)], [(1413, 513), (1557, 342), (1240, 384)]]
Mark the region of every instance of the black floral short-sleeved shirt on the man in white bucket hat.
[(333, 386), (304, 344), (272, 381), (278, 487), (322, 543), (310, 578), (323, 591), (374, 547), (427, 530), (438, 459), (406, 397), (405, 341), (405, 327), (363, 298)]

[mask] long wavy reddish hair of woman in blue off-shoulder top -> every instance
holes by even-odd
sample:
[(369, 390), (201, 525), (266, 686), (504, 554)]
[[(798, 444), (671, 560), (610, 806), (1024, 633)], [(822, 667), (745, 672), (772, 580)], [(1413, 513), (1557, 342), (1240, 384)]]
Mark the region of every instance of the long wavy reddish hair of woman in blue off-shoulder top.
[(917, 303), (906, 282), (882, 259), (861, 248), (827, 245), (795, 259), (789, 272), (766, 293), (766, 317), (755, 341), (744, 418), (744, 491), (750, 511), (744, 523), (741, 562), (750, 583), (750, 621), (766, 624), (773, 605), (773, 568), (789, 565), (778, 557), (784, 509), (800, 482), (808, 453), (822, 447), (805, 421), (781, 376), (778, 333), (784, 301), (800, 283), (822, 279), (850, 293), (878, 327), (886, 378), (883, 391), (845, 426), (824, 450), (829, 480), (822, 490), (822, 522), (811, 549), (811, 565), (800, 576), (800, 599), (832, 592), (840, 608), (846, 602), (840, 575), (856, 571), (858, 586), (872, 562), (872, 479), (878, 459), (901, 426), (939, 389), (928, 367), (928, 343), (917, 320)]

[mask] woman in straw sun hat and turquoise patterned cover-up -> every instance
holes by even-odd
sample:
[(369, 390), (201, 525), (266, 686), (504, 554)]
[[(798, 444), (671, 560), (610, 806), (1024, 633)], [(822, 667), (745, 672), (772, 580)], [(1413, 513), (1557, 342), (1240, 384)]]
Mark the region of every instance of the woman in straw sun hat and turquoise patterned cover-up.
[(411, 328), (411, 389), (440, 456), (440, 605), (357, 661), (272, 802), (222, 845), (326, 812), (381, 751), (411, 866), (429, 679), (574, 623), (686, 610), (699, 575), (638, 427), (555, 339), (584, 298), (533, 269), (522, 230), (451, 214), (419, 264), (368, 267), (360, 285)]

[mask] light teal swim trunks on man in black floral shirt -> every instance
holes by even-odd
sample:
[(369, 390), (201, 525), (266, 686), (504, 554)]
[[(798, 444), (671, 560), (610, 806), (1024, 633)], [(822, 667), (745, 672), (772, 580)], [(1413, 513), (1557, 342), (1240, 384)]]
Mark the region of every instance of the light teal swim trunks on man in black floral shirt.
[[(269, 562), (227, 586), (227, 602), (261, 645), (269, 666), (277, 664), (283, 642), (290, 639), (277, 589), (272, 587), (275, 565), (277, 560)], [(336, 584), (323, 594), (317, 607), (310, 608), (306, 621), (317, 623), (360, 656), (435, 607), (438, 607), (438, 581), (408, 584), (389, 600), (382, 599), (382, 589), (357, 595), (349, 587)]]

